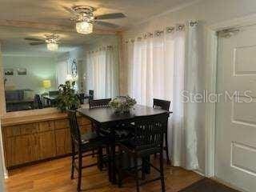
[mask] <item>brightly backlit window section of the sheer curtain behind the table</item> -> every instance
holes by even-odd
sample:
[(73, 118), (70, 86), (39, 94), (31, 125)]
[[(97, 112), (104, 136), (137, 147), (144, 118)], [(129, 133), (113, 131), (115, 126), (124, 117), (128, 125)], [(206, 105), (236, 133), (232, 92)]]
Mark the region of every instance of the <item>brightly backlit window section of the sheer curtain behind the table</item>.
[(127, 50), (132, 51), (130, 62), (130, 95), (139, 104), (152, 106), (153, 98), (172, 100), (174, 37), (176, 33), (155, 35), (129, 43)]

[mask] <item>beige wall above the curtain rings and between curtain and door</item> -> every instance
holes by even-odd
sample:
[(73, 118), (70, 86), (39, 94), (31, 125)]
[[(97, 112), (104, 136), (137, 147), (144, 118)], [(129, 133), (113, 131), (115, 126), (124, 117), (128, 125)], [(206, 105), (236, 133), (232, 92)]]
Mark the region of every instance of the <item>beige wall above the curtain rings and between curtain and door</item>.
[[(202, 40), (199, 42), (202, 44), (202, 50), (206, 50), (206, 29), (208, 26), (224, 22), (230, 19), (245, 17), (250, 14), (256, 13), (256, 1), (254, 0), (202, 0), (194, 1), (194, 3), (184, 4), (180, 7), (176, 7), (173, 10), (166, 11), (165, 13), (159, 13), (158, 16), (149, 18), (147, 21), (141, 23), (135, 23), (134, 27), (130, 30), (126, 30), (122, 33), (123, 41), (126, 39), (137, 37), (138, 35), (144, 34), (158, 29), (165, 29), (166, 26), (174, 26), (177, 23), (185, 23), (191, 19), (198, 19), (202, 22)], [(206, 53), (202, 53), (206, 55)], [(198, 75), (201, 79), (200, 89), (206, 89), (206, 76), (207, 74), (206, 57), (202, 57), (200, 66), (198, 67)], [(126, 78), (127, 66), (122, 63), (120, 73), (122, 77)], [(127, 79), (122, 79), (123, 90), (127, 92)], [(198, 116), (198, 171), (202, 174), (205, 173), (206, 166), (206, 106), (204, 104), (199, 106)], [(214, 151), (213, 151), (214, 153)]]

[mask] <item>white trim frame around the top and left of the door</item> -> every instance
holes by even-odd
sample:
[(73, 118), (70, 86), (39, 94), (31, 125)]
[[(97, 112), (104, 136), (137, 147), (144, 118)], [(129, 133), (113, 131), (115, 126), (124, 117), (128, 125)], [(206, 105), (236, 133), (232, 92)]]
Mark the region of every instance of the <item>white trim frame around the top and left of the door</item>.
[[(226, 28), (250, 26), (256, 24), (256, 14), (247, 15), (242, 18), (234, 18), (229, 21), (219, 22), (211, 25), (206, 29), (207, 33), (207, 50), (206, 63), (208, 77), (206, 80), (206, 89), (211, 93), (216, 93), (217, 86), (217, 66), (218, 66), (218, 36), (217, 31)], [(206, 104), (206, 177), (215, 176), (215, 121), (216, 121), (216, 104)]]

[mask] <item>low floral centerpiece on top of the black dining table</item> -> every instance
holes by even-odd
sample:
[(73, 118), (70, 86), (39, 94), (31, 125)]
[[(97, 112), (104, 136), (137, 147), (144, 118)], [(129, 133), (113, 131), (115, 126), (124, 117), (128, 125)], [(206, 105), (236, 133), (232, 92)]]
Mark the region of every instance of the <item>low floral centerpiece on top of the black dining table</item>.
[(136, 104), (136, 100), (134, 98), (130, 98), (129, 96), (119, 96), (114, 98), (110, 102), (110, 107), (114, 109), (115, 113), (129, 113), (130, 109), (134, 107)]

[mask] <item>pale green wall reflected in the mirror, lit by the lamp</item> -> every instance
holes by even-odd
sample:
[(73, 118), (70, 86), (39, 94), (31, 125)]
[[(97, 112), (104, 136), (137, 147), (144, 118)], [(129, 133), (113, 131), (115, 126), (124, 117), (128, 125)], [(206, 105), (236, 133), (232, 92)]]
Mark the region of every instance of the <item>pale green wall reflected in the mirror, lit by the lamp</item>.
[[(50, 90), (56, 90), (56, 64), (52, 57), (33, 57), (26, 55), (3, 54), (3, 67), (14, 69), (14, 75), (7, 75), (6, 87), (30, 89), (35, 93), (43, 93), (43, 80), (50, 80)], [(26, 75), (18, 75), (16, 69), (26, 68)]]

